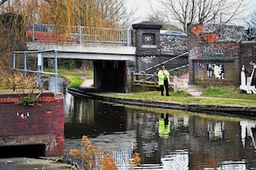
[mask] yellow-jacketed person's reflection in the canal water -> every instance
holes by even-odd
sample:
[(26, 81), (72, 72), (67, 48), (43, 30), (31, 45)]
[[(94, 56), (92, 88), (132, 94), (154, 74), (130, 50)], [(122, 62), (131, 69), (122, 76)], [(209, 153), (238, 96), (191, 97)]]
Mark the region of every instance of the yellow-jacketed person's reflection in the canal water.
[(160, 138), (168, 138), (170, 133), (170, 122), (169, 122), (169, 115), (166, 113), (165, 115), (162, 113), (159, 121), (158, 121), (158, 133)]

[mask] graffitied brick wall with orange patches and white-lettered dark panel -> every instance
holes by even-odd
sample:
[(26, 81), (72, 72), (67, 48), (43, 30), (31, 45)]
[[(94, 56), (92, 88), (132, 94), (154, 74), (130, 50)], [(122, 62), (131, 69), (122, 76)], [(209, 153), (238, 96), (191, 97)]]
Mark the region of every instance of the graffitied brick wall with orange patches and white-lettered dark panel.
[[(217, 31), (218, 29), (220, 30)], [(190, 84), (205, 86), (240, 84), (239, 41), (241, 39), (236, 36), (239, 35), (240, 29), (234, 26), (219, 28), (201, 24), (189, 26)], [(222, 32), (225, 32), (225, 35)]]

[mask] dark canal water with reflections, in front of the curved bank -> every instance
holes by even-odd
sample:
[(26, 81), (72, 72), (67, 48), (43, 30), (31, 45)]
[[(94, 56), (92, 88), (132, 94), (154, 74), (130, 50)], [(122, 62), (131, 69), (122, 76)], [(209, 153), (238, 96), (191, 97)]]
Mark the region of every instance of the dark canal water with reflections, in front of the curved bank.
[(254, 117), (130, 107), (63, 94), (67, 157), (86, 135), (102, 150), (113, 150), (119, 169), (129, 167), (134, 152), (151, 169), (256, 169)]

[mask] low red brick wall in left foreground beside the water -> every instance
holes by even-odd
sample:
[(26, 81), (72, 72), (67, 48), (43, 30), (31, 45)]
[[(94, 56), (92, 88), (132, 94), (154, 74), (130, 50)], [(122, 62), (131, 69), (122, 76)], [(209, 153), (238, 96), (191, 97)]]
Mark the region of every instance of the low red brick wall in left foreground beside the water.
[(63, 156), (63, 96), (42, 94), (30, 106), (20, 99), (0, 95), (0, 145), (45, 144), (45, 156)]

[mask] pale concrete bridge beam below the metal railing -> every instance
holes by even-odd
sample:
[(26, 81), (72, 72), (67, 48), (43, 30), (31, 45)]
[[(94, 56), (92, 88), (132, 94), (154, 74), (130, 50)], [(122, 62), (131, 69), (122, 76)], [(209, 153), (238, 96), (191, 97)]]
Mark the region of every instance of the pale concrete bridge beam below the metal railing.
[[(58, 58), (62, 59), (93, 59), (93, 60), (136, 60), (136, 48), (127, 46), (86, 46), (85, 44), (27, 42), (28, 50), (58, 51)], [(54, 58), (54, 54), (44, 54), (45, 58)]]

